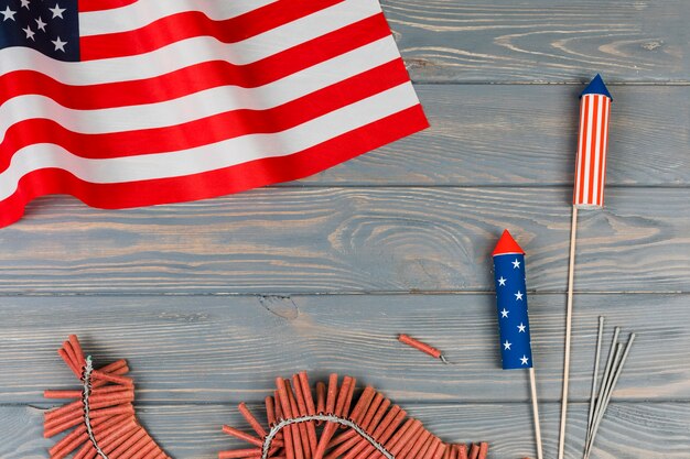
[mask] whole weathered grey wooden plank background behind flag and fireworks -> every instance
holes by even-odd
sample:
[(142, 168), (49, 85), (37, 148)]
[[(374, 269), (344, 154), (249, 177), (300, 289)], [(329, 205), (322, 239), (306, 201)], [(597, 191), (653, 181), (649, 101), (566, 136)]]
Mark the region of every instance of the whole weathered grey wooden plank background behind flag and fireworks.
[[(0, 458), (46, 457), (42, 390), (78, 334), (128, 358), (176, 459), (276, 375), (348, 373), (449, 441), (535, 457), (527, 374), (499, 369), (490, 250), (528, 252), (556, 456), (578, 94), (614, 95), (606, 208), (580, 212), (567, 457), (581, 457), (599, 315), (638, 332), (593, 458), (690, 457), (690, 2), (386, 0), (432, 128), (295, 183), (125, 211), (47, 197), (0, 231)], [(606, 336), (610, 336), (611, 328)], [(401, 347), (408, 332), (452, 365)]]

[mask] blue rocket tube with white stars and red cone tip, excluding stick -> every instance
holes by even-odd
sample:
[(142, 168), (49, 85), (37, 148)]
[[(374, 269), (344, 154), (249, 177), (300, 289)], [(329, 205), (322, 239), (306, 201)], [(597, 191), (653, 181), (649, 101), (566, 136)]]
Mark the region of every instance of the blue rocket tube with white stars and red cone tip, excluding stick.
[(532, 367), (532, 347), (527, 313), (525, 252), (508, 230), (494, 249), (496, 306), (504, 370)]

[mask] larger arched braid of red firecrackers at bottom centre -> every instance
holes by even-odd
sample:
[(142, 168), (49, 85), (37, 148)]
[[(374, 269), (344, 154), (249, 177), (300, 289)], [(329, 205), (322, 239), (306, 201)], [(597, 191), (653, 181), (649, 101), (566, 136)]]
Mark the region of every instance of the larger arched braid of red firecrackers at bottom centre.
[[(486, 459), (488, 444), (450, 445), (431, 434), (419, 419), (392, 404), (371, 386), (355, 397), (354, 378), (316, 383), (314, 394), (305, 372), (276, 379), (266, 398), (263, 427), (246, 404), (239, 412), (254, 430), (230, 426), (223, 431), (250, 445), (220, 451), (219, 459)], [(355, 401), (356, 398), (356, 401)]]

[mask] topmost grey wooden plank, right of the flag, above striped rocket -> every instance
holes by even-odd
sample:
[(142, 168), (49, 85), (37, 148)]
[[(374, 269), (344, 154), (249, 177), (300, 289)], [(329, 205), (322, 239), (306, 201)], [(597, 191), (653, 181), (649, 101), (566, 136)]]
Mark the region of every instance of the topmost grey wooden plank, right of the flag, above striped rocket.
[(417, 81), (688, 81), (683, 0), (384, 0)]

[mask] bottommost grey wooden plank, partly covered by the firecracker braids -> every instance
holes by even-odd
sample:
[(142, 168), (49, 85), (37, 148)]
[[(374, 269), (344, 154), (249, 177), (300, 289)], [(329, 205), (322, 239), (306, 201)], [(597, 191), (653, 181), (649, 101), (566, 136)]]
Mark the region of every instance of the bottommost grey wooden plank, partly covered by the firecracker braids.
[[(528, 404), (403, 406), (446, 441), (489, 441), (492, 459), (536, 457)], [(258, 413), (258, 409), (256, 411)], [(246, 447), (220, 431), (223, 424), (245, 426), (227, 405), (144, 405), (141, 422), (173, 458), (214, 459), (223, 449)], [(567, 457), (580, 457), (586, 405), (570, 409)], [(559, 405), (542, 403), (545, 457), (554, 457)], [(687, 403), (615, 403), (607, 412), (592, 459), (687, 459), (690, 444)], [(0, 459), (44, 458), (53, 445), (42, 438), (42, 409), (0, 406)]]

